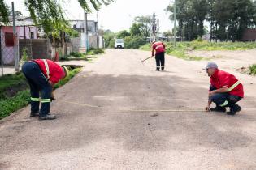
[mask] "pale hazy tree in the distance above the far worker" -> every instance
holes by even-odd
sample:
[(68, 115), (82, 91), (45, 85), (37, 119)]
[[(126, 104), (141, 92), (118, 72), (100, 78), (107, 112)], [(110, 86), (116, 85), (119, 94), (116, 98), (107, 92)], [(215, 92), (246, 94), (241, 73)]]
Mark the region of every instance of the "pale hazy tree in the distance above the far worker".
[(152, 24), (152, 18), (150, 17), (150, 15), (137, 16), (137, 17), (135, 17), (134, 21), (140, 27), (142, 36), (144, 36), (145, 38), (149, 37), (150, 29), (151, 29), (150, 27)]

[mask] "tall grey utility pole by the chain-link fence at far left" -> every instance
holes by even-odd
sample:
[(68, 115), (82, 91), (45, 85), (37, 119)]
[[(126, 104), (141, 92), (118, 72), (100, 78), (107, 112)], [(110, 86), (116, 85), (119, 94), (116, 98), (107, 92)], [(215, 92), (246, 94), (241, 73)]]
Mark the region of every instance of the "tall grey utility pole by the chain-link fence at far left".
[(19, 66), (19, 55), (18, 55), (18, 44), (17, 44), (18, 37), (16, 37), (14, 2), (11, 2), (11, 8), (12, 8), (13, 37), (14, 37), (14, 40), (15, 40), (15, 42), (14, 42), (15, 46), (13, 47), (14, 57), (15, 57), (15, 71), (19, 71), (20, 70), (20, 66)]

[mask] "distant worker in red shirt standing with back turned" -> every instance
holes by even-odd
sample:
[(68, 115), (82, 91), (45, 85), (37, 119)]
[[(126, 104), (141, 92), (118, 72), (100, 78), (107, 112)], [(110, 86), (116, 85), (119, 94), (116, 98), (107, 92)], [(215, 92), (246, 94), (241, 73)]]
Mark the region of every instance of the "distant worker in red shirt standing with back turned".
[[(154, 52), (155, 51), (155, 52)], [(165, 53), (165, 45), (163, 42), (156, 42), (152, 43), (152, 57), (154, 57), (155, 53), (155, 61), (156, 61), (156, 70), (160, 70), (160, 63), (161, 69), (164, 70), (164, 53)]]

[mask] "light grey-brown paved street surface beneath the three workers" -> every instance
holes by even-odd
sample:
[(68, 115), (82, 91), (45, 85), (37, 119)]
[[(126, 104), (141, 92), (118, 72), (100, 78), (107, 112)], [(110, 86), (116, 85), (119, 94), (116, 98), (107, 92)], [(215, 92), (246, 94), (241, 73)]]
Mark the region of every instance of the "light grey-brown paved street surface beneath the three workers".
[(0, 123), (0, 169), (256, 169), (255, 77), (219, 66), (245, 85), (235, 117), (205, 113), (206, 61), (166, 57), (154, 71), (150, 52), (107, 50), (56, 91), (38, 121), (24, 108)]

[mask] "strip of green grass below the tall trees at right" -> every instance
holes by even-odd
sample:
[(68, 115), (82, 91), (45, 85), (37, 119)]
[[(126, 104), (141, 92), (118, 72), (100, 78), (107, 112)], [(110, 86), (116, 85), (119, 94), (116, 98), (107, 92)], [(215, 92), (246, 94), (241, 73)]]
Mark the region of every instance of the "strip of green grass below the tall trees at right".
[[(255, 42), (218, 42), (218, 43), (210, 43), (207, 41), (193, 40), (192, 42), (178, 42), (176, 47), (174, 47), (173, 43), (166, 43), (167, 54), (182, 58), (184, 60), (203, 60), (209, 59), (205, 57), (197, 57), (197, 56), (189, 56), (187, 55), (188, 50), (206, 50), (206, 51), (214, 51), (214, 50), (247, 50), (247, 49), (256, 49)], [(150, 50), (151, 45), (146, 44), (141, 46), (142, 50)]]

